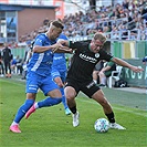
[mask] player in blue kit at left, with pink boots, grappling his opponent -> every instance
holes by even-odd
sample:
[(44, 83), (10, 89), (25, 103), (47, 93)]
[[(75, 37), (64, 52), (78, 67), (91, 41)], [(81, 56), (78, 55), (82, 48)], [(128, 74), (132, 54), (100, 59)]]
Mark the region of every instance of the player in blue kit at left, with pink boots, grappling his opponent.
[(53, 52), (59, 48), (65, 49), (56, 39), (63, 30), (63, 24), (60, 21), (53, 21), (46, 33), (39, 34), (35, 38), (33, 45), (33, 54), (28, 64), (27, 75), (27, 99), (18, 109), (18, 113), (10, 126), (13, 133), (21, 133), (19, 123), (25, 113), (33, 106), (36, 97), (38, 90), (40, 88), (45, 96), (50, 96), (41, 102), (41, 105), (50, 103), (50, 106), (56, 105), (61, 102), (62, 94), (57, 84), (52, 80), (51, 70), (53, 62)]

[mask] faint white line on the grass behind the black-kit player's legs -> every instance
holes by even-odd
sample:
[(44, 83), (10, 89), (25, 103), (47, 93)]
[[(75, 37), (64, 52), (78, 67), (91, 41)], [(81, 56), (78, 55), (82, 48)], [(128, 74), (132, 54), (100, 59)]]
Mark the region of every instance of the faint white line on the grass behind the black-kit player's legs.
[[(90, 101), (84, 101), (84, 99), (80, 99), (77, 98), (78, 101), (82, 101), (82, 102), (85, 102), (85, 103), (91, 103), (91, 104), (94, 104), (94, 105), (97, 105), (96, 102), (90, 102)], [(114, 107), (118, 111), (122, 111), (122, 112), (127, 112), (127, 113), (132, 113), (132, 114), (135, 114), (135, 115), (139, 115), (139, 116), (143, 116), (143, 117), (147, 117), (146, 114), (141, 114), (141, 113), (135, 113), (134, 111), (127, 111), (125, 108), (119, 108), (119, 107)], [(143, 109), (143, 111), (146, 111), (146, 109)]]

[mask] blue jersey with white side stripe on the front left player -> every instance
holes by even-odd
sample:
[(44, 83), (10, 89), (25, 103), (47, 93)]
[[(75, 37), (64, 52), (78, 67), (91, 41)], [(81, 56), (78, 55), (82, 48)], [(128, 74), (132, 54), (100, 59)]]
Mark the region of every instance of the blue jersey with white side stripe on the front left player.
[[(39, 34), (35, 38), (34, 45), (46, 46), (56, 43), (51, 41), (45, 33)], [(48, 50), (43, 53), (33, 53), (28, 64), (28, 72), (35, 72), (39, 75), (48, 76), (51, 74), (51, 65), (53, 62), (53, 53)]]

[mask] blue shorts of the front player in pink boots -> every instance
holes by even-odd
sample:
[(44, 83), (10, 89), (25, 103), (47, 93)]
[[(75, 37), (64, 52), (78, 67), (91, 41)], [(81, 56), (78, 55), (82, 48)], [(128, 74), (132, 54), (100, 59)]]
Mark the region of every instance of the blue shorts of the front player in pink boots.
[(27, 93), (38, 93), (41, 90), (46, 96), (49, 92), (57, 88), (57, 84), (53, 81), (52, 76), (41, 76), (34, 72), (29, 72), (27, 75)]

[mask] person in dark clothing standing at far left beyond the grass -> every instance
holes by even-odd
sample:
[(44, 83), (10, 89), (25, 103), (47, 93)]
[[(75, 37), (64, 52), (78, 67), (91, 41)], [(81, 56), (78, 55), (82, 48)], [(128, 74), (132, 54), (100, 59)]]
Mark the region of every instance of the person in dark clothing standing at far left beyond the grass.
[(4, 43), (4, 49), (2, 50), (2, 59), (4, 62), (6, 77), (11, 77), (12, 54), (8, 43)]

